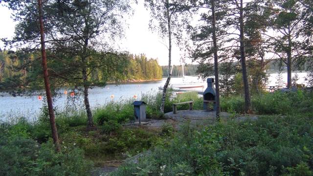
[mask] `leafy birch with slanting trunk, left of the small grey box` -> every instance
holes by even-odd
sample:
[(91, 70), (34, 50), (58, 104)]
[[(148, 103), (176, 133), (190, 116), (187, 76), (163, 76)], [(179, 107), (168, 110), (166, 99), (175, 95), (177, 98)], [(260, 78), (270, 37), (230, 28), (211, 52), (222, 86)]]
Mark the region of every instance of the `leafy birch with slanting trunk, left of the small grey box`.
[[(112, 44), (124, 36), (126, 18), (132, 14), (129, 0), (69, 0), (54, 25), (59, 29), (58, 51), (67, 53), (72, 63), (65, 60), (75, 76), (69, 78), (75, 87), (83, 87), (88, 126), (94, 126), (89, 105), (89, 88), (103, 86), (106, 79), (119, 75), (128, 65), (127, 55), (118, 54)], [(56, 3), (55, 8), (59, 8)], [(69, 56), (70, 55), (70, 56)], [(100, 70), (104, 80), (90, 79)], [(116, 77), (117, 76), (117, 77)]]

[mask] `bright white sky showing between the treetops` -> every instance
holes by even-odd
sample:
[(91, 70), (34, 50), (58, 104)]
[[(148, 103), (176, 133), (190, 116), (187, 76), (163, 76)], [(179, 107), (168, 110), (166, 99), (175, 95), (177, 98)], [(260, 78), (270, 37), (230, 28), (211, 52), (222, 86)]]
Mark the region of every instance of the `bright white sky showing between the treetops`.
[[(146, 54), (147, 58), (158, 59), (160, 66), (168, 65), (168, 49), (164, 45), (168, 42), (163, 42), (149, 30), (149, 11), (139, 1), (134, 5), (134, 16), (128, 21), (129, 26), (126, 29), (125, 39), (121, 41), (120, 47), (122, 50), (129, 51), (131, 54)], [(15, 22), (10, 18), (11, 11), (7, 7), (0, 5), (0, 38), (9, 38), (14, 34)], [(0, 47), (3, 49), (3, 43), (0, 42)], [(173, 45), (172, 48), (172, 65), (181, 65), (179, 48)], [(191, 61), (187, 60), (186, 63), (190, 64)]]

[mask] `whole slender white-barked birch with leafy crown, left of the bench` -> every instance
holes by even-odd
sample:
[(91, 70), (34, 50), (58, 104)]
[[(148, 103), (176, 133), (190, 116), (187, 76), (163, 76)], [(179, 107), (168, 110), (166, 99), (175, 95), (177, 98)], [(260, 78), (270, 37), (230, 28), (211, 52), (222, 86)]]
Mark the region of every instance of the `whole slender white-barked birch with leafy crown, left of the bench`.
[[(151, 21), (149, 28), (156, 31), (163, 41), (168, 42), (168, 77), (163, 87), (160, 113), (164, 113), (166, 90), (171, 81), (172, 46), (173, 41), (179, 44), (183, 29), (189, 23), (190, 12), (187, 0), (145, 0), (145, 6), (150, 9)], [(155, 24), (156, 23), (156, 24)]]

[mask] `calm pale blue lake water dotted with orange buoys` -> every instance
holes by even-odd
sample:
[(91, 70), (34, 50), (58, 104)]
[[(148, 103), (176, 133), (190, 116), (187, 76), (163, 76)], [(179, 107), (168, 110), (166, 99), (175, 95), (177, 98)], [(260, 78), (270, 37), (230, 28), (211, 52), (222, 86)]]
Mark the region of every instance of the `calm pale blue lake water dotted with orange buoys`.
[[(298, 84), (305, 84), (304, 77), (306, 73), (297, 73), (299, 75)], [(287, 73), (283, 73), (283, 81), (287, 83)], [(292, 76), (294, 73), (292, 74)], [(275, 86), (277, 73), (270, 74), (268, 86)], [(140, 100), (142, 94), (156, 93), (158, 87), (163, 86), (166, 79), (161, 81), (130, 83), (119, 86), (107, 85), (105, 88), (92, 88), (89, 89), (89, 103), (92, 109), (103, 107), (108, 101), (123, 101), (129, 98), (133, 98), (136, 95), (136, 100)], [(171, 82), (180, 82), (181, 78), (171, 78)], [(206, 86), (204, 87), (204, 89)], [(67, 96), (70, 96), (68, 92), (64, 93), (66, 89), (60, 90), (61, 96), (55, 99), (54, 107), (63, 109), (67, 106)], [(198, 91), (202, 91), (202, 88), (198, 88)], [(36, 118), (41, 108), (43, 107), (45, 94), (36, 94), (33, 97), (17, 96), (13, 97), (5, 93), (1, 93), (0, 96), (0, 121), (4, 121), (8, 117), (14, 116), (27, 116), (30, 118)], [(111, 96), (114, 96), (112, 98)], [(42, 99), (38, 97), (42, 96)], [(76, 100), (84, 102), (83, 99)], [(82, 104), (82, 103), (81, 103)]]

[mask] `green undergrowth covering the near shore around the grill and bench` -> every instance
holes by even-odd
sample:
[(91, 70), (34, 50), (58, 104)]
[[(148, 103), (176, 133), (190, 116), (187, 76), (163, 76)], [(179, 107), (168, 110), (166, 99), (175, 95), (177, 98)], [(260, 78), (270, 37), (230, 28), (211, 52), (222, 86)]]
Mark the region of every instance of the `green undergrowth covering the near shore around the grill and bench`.
[[(195, 101), (194, 110), (203, 108), (202, 97), (196, 92), (176, 95), (169, 91), (167, 97), (166, 112), (172, 111), (172, 103), (190, 100)], [(112, 175), (312, 176), (310, 92), (253, 95), (254, 112), (258, 114), (254, 121), (236, 121), (244, 111), (242, 97), (221, 100), (222, 111), (230, 112), (231, 118), (222, 117), (215, 126), (186, 123), (175, 133), (170, 124), (156, 131), (121, 125), (133, 122), (134, 99), (110, 101), (94, 110), (95, 128), (86, 127), (84, 111), (70, 106), (65, 111), (56, 109), (62, 146), (57, 154), (49, 139), (45, 108), (36, 122), (12, 117), (11, 123), (0, 124), (0, 175), (87, 175), (89, 161), (94, 166), (107, 166), (108, 160), (150, 150), (139, 157), (137, 164), (124, 163)], [(158, 113), (160, 92), (144, 94), (142, 101), (147, 103), (147, 118), (162, 118)], [(178, 106), (178, 110), (187, 109), (187, 104)]]

